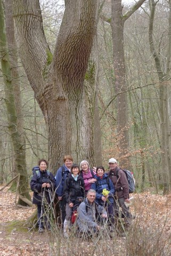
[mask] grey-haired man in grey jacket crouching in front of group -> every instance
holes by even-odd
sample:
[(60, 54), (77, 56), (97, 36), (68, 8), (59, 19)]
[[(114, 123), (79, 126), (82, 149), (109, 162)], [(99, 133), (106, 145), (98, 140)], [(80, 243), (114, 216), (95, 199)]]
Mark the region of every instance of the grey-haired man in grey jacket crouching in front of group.
[(96, 234), (101, 229), (100, 223), (107, 221), (107, 212), (103, 206), (95, 203), (95, 196), (94, 189), (88, 190), (85, 201), (77, 209), (77, 224), (80, 233)]

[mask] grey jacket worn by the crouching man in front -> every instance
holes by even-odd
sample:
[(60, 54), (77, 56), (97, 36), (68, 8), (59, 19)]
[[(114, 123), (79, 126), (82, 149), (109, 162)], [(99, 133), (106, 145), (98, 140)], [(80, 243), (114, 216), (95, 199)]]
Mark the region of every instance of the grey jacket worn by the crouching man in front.
[(96, 212), (98, 214), (107, 215), (103, 206), (96, 204), (95, 202), (93, 204), (89, 204), (87, 198), (79, 205), (77, 209), (77, 224), (80, 231), (87, 232), (96, 229), (98, 226), (98, 223), (96, 222)]

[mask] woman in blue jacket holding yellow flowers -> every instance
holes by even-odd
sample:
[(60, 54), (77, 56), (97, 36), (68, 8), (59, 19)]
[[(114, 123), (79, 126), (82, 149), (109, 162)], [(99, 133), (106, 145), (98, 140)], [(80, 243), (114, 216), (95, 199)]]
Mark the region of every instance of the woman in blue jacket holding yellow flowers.
[[(94, 177), (96, 182), (92, 183), (91, 189), (96, 191), (95, 201), (106, 207), (108, 218), (110, 222), (114, 222), (114, 211), (113, 211), (113, 196), (115, 195), (115, 188), (111, 182), (108, 174), (105, 173), (103, 166), (98, 166), (96, 168), (96, 175)], [(104, 190), (109, 191), (108, 195), (104, 195)]]

